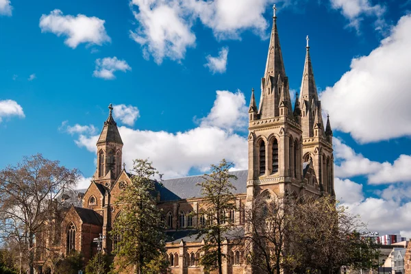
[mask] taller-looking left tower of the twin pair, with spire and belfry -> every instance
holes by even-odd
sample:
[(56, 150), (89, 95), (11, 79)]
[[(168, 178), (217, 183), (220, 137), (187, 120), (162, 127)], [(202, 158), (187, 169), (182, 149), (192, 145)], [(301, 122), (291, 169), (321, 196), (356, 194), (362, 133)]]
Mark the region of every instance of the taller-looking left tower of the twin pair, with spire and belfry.
[(297, 190), (301, 184), (301, 112), (299, 108), (292, 112), (275, 5), (273, 9), (273, 27), (261, 82), (260, 105), (257, 108), (252, 90), (249, 106), (247, 201), (252, 201), (264, 190), (284, 195), (285, 192)]

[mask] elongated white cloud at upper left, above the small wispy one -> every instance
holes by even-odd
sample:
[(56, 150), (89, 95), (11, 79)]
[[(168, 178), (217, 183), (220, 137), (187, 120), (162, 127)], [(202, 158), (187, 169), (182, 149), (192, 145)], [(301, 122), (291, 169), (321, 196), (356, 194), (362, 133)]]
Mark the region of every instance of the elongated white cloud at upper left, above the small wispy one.
[(111, 39), (105, 32), (104, 20), (83, 14), (77, 16), (63, 15), (61, 10), (53, 10), (50, 14), (42, 14), (40, 18), (41, 32), (52, 32), (57, 36), (67, 36), (66, 45), (75, 49), (81, 43), (102, 45)]

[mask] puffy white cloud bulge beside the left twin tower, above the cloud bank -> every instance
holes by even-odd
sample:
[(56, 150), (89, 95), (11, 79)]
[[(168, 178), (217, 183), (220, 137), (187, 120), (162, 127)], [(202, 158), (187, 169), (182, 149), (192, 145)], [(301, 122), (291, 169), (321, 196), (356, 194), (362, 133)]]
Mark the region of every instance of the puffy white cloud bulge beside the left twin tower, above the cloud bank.
[(240, 90), (236, 93), (217, 90), (217, 97), (210, 113), (200, 119), (201, 127), (219, 127), (222, 129), (247, 129), (248, 108), (245, 96)]

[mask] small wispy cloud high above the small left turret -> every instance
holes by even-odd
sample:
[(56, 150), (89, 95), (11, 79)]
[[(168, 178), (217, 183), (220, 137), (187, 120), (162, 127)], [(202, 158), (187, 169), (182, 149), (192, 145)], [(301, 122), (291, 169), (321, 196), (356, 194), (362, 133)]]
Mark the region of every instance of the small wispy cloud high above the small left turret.
[(131, 71), (132, 68), (125, 62), (125, 60), (119, 60), (115, 56), (113, 58), (106, 57), (103, 59), (96, 60), (96, 69), (93, 72), (94, 77), (99, 77), (103, 79), (115, 79), (115, 71)]

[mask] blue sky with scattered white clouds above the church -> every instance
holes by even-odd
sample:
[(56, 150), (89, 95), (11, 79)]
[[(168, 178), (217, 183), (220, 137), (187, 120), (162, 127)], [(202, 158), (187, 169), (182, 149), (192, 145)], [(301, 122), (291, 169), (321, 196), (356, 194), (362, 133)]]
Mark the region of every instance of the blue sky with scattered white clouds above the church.
[(0, 168), (39, 152), (86, 184), (109, 103), (127, 166), (245, 168), (273, 3), (293, 92), (310, 36), (337, 196), (370, 229), (411, 236), (410, 0), (0, 0)]

